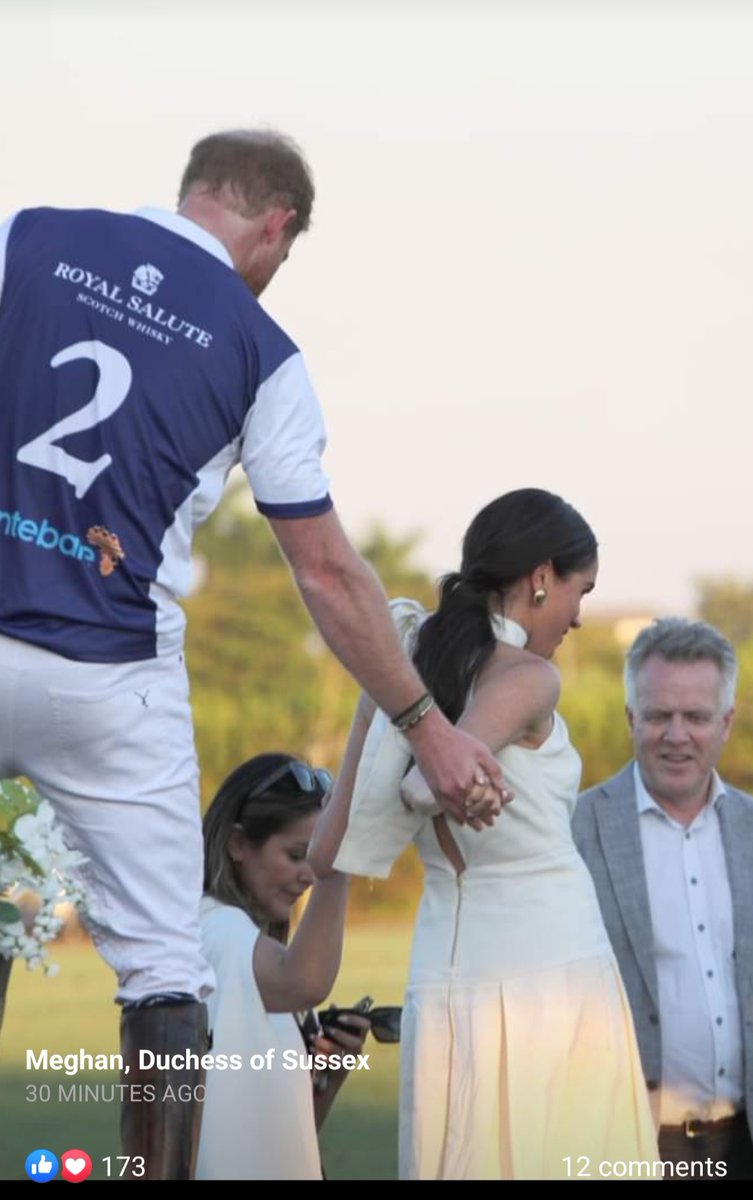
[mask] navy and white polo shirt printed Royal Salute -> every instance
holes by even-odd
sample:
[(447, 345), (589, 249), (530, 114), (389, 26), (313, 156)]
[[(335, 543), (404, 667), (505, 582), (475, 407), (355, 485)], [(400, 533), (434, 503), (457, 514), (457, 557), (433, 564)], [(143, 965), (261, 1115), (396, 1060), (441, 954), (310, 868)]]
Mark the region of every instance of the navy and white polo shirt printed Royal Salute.
[(324, 445), (301, 354), (194, 222), (0, 226), (1, 634), (90, 662), (179, 650), (230, 468), (266, 516), (317, 516)]

